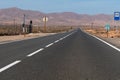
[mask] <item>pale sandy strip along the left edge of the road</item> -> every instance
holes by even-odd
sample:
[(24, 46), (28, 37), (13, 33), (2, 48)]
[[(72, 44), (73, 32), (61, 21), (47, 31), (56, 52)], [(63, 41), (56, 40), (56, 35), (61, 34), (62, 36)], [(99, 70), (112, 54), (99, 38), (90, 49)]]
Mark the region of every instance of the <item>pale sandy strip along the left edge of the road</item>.
[(0, 36), (0, 43), (53, 35), (55, 33), (31, 33), (26, 35)]

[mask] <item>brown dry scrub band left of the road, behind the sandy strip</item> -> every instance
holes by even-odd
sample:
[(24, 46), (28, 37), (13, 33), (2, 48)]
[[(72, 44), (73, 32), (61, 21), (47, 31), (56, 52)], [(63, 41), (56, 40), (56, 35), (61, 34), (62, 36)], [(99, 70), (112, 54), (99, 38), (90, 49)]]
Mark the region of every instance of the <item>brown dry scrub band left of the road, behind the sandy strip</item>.
[[(46, 28), (46, 32), (44, 31), (44, 27), (39, 26), (33, 26), (32, 32), (33, 33), (58, 33), (58, 32), (64, 32), (69, 31), (73, 29), (71, 26), (49, 26)], [(29, 25), (25, 26), (25, 33), (27, 34), (29, 31)], [(3, 35), (19, 35), (24, 34), (22, 32), (22, 26), (21, 25), (0, 25), (0, 36)]]

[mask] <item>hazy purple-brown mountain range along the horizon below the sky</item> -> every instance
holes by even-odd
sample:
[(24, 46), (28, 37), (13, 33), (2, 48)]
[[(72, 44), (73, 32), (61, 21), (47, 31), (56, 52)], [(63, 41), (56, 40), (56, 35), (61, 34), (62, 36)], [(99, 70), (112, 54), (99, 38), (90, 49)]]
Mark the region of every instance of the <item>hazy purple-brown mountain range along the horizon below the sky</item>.
[(105, 25), (106, 23), (113, 24), (113, 16), (106, 14), (87, 15), (77, 14), (73, 12), (63, 13), (43, 13), (32, 10), (22, 10), (16, 7), (0, 9), (0, 24), (13, 24), (15, 19), (17, 24), (23, 23), (23, 15), (26, 15), (26, 24), (33, 20), (34, 25), (43, 25), (42, 18), (47, 16), (49, 18), (48, 25)]

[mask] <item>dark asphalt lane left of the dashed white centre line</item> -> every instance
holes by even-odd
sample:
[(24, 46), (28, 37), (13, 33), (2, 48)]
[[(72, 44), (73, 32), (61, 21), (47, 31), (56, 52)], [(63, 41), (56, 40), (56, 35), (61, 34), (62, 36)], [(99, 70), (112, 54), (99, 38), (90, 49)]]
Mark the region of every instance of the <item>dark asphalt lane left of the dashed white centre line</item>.
[(26, 58), (26, 55), (45, 47), (47, 44), (69, 34), (60, 33), (35, 39), (17, 41), (8, 44), (0, 44), (0, 68), (14, 62)]

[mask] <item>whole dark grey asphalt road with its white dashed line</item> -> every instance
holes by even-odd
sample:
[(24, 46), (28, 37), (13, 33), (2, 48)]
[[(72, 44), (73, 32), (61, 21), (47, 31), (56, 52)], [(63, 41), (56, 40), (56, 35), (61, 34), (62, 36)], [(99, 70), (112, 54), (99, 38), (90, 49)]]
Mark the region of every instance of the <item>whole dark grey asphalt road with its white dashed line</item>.
[(120, 52), (80, 29), (1, 44), (0, 80), (120, 80)]

